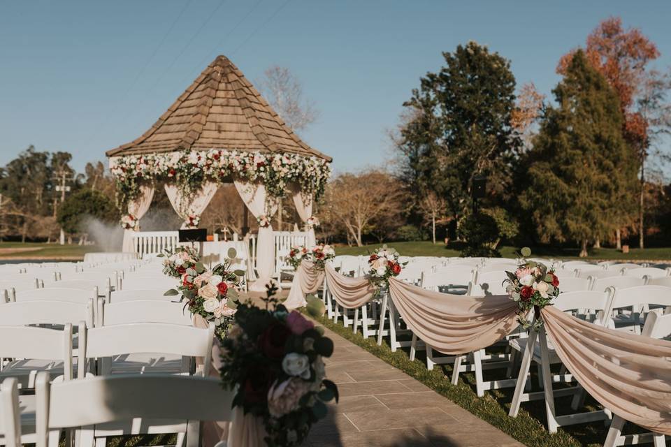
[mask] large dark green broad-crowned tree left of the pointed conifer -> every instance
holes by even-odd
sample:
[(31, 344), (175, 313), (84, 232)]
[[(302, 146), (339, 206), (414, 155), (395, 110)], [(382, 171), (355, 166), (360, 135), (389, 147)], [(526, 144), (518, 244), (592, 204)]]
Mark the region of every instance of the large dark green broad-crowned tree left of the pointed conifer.
[(510, 191), (519, 147), (511, 125), (515, 80), (509, 61), (474, 42), (443, 57), (445, 66), (421, 78), (404, 104), (408, 119), (396, 146), (412, 189), (435, 191), (458, 221), (470, 208), (475, 176), (489, 177), (490, 198)]

